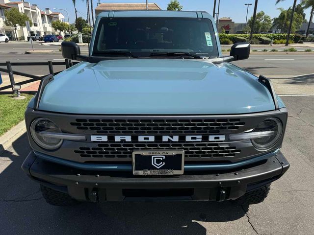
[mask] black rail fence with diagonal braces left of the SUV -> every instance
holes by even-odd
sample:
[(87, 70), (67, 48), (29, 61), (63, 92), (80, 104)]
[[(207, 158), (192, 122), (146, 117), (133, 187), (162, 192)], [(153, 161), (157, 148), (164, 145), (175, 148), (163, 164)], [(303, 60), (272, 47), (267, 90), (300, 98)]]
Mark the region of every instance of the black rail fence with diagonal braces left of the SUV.
[[(24, 85), (24, 84), (27, 84), (27, 83), (30, 83), (30, 82), (35, 82), (35, 81), (41, 80), (42, 78), (46, 77), (49, 74), (56, 75), (59, 72), (62, 72), (62, 71), (53, 72), (53, 66), (54, 65), (64, 65), (65, 68), (68, 69), (68, 68), (72, 67), (73, 65), (75, 65), (77, 63), (78, 62), (72, 62), (69, 59), (65, 59), (64, 62), (48, 61), (48, 62), (13, 62), (13, 63), (11, 63), (10, 61), (6, 61), (5, 63), (0, 63), (0, 66), (2, 66), (2, 67), (6, 66), (6, 69), (0, 68), (0, 72), (8, 73), (9, 74), (9, 79), (10, 79), (10, 85), (4, 86), (4, 87), (0, 87), (0, 94), (7, 94), (7, 93), (15, 94), (16, 91), (13, 89), (14, 85)], [(37, 76), (37, 75), (25, 73), (25, 72), (14, 71), (12, 69), (12, 66), (48, 66), (49, 74), (44, 75), (44, 76)], [(28, 79), (26, 81), (15, 83), (14, 75), (20, 75), (20, 76), (24, 76), (24, 77), (29, 77), (30, 79)], [(2, 78), (2, 80), (3, 80), (3, 78)], [(9, 89), (9, 88), (12, 89), (12, 92), (4, 92), (4, 90)], [(23, 93), (23, 91), (21, 93)], [(35, 92), (27, 92), (27, 93), (35, 93)]]

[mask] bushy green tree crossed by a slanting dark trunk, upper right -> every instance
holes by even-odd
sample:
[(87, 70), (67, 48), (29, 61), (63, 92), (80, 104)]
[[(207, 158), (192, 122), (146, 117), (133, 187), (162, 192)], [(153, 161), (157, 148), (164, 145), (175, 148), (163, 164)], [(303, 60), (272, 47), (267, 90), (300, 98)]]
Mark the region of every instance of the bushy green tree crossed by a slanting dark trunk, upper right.
[[(289, 7), (287, 10), (284, 8), (278, 8), (280, 14), (277, 18), (274, 18), (273, 27), (281, 29), (282, 33), (287, 33), (290, 25), (290, 18), (292, 9)], [(297, 29), (302, 26), (303, 16), (297, 12), (293, 14), (293, 20), (291, 24), (291, 33), (294, 33)]]

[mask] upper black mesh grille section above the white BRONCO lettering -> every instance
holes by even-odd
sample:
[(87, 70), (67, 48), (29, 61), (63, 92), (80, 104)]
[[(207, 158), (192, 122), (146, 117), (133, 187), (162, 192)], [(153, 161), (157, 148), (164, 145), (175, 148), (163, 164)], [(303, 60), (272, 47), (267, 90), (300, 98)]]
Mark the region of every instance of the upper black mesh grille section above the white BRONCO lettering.
[(70, 123), (89, 134), (209, 134), (238, 130), (245, 125), (230, 119), (76, 119)]

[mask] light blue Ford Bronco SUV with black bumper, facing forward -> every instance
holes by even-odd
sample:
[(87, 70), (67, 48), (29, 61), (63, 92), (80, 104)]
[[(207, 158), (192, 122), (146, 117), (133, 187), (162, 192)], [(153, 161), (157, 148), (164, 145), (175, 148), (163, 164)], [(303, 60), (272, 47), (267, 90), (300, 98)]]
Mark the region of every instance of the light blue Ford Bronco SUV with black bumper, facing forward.
[(260, 203), (289, 167), (288, 113), (270, 81), (222, 56), (206, 12), (98, 15), (89, 55), (41, 80), (26, 110), (23, 163), (52, 205), (81, 201)]

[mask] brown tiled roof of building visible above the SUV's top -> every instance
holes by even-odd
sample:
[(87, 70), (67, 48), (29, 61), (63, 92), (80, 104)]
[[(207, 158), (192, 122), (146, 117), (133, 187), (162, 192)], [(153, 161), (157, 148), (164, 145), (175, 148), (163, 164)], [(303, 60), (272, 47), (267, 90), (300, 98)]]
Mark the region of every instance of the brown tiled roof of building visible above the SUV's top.
[[(149, 10), (161, 10), (156, 3), (148, 3)], [(111, 10), (111, 11), (131, 11), (146, 10), (146, 3), (101, 3), (95, 10)]]

